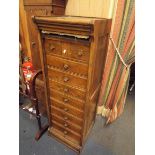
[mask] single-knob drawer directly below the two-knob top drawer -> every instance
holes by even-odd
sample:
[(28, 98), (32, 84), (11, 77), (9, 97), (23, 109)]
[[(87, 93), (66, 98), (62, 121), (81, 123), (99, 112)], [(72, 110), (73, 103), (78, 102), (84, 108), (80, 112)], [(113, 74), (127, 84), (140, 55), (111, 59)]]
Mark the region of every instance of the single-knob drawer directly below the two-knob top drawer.
[(72, 72), (79, 76), (87, 77), (88, 75), (88, 65), (84, 63), (74, 62), (52, 55), (46, 55), (46, 62), (49, 68), (57, 68), (62, 71)]

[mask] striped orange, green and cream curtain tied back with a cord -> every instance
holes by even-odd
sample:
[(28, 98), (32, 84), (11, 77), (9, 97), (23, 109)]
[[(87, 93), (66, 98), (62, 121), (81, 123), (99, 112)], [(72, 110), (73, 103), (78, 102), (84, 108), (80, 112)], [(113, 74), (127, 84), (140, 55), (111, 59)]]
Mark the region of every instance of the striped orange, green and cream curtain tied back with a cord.
[(123, 112), (130, 66), (135, 60), (134, 0), (117, 1), (110, 36), (112, 40), (109, 40), (97, 110), (97, 114), (107, 117), (107, 123), (114, 121)]

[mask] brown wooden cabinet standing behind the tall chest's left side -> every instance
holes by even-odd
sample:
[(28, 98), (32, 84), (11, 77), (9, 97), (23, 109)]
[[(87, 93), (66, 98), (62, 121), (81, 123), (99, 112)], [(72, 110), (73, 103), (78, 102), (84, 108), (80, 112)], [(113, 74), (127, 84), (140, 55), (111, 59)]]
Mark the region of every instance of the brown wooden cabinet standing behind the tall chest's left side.
[[(66, 0), (24, 0), (27, 26), (29, 32), (29, 43), (33, 66), (36, 70), (41, 69), (38, 30), (32, 21), (33, 16), (54, 16), (63, 15), (65, 12)], [(44, 82), (42, 77), (36, 80), (36, 93), (40, 102), (45, 103)]]

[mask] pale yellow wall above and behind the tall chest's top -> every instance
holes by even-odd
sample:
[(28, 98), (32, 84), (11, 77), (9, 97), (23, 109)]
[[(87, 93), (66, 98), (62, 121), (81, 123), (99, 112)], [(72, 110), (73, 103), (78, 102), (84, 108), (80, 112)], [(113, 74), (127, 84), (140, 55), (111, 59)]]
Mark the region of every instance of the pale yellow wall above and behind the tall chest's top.
[(112, 18), (116, 0), (68, 0), (66, 15)]

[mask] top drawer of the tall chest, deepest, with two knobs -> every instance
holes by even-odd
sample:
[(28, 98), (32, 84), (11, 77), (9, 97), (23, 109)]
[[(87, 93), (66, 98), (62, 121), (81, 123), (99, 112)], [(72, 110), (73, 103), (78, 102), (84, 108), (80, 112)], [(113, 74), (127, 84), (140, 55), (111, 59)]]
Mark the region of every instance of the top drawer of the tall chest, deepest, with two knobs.
[(67, 42), (54, 38), (45, 38), (45, 51), (47, 54), (56, 54), (76, 61), (89, 61), (89, 45)]

